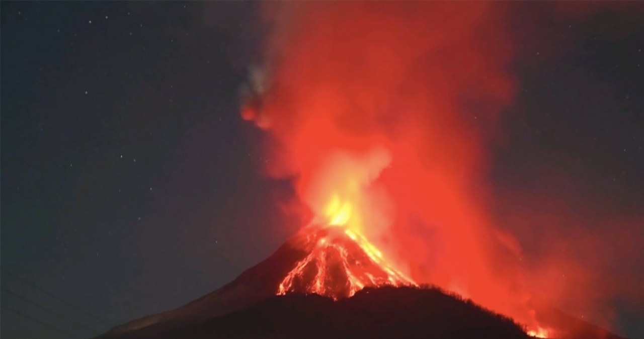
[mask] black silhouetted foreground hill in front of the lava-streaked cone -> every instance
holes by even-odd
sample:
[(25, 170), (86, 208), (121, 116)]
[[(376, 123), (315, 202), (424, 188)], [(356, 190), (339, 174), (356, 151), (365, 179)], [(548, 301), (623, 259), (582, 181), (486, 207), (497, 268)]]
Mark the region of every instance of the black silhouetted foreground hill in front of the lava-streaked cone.
[(334, 302), (285, 295), (228, 315), (173, 329), (113, 338), (529, 338), (511, 319), (439, 289), (366, 288)]

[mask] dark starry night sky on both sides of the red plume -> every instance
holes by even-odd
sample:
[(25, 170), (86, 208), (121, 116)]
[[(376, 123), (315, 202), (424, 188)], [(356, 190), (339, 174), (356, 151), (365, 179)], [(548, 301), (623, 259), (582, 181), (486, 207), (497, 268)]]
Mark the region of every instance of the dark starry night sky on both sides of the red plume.
[[(526, 253), (575, 236), (562, 224), (607, 239), (594, 248), (607, 255), (619, 243), (605, 234), (644, 239), (642, 7), (513, 9), (517, 93), (489, 180), (499, 227), (512, 223)], [(256, 4), (0, 9), (3, 338), (88, 337), (180, 306), (300, 226), (239, 114), (263, 38)], [(639, 286), (635, 302), (613, 300), (632, 338), (644, 337), (642, 255), (597, 266)]]

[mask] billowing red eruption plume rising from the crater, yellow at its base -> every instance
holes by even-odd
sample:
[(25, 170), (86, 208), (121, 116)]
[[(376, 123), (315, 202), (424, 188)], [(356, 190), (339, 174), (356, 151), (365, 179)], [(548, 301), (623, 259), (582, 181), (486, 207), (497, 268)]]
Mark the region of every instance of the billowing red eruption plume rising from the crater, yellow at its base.
[(513, 97), (504, 5), (268, 7), (242, 116), (271, 136), (269, 175), (292, 178), (312, 223), (364, 235), (416, 282), (536, 325), (520, 248), (486, 212), (486, 144)]

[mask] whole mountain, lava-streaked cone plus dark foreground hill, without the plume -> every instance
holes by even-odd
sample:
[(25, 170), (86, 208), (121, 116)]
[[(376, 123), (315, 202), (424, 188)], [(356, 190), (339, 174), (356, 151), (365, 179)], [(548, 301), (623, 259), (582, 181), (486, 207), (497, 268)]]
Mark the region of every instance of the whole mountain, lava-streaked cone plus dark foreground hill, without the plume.
[[(563, 313), (562, 318), (558, 325), (573, 324), (575, 333), (585, 334), (566, 338), (620, 339)], [(222, 288), (99, 336), (213, 337), (530, 338), (510, 318), (471, 300), (420, 288), (365, 237), (334, 225), (307, 226)]]

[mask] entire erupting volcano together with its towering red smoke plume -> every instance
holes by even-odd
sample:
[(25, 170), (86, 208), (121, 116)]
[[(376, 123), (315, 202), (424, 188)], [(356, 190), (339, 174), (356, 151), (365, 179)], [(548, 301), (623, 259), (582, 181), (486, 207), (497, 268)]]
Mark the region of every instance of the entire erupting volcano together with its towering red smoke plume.
[[(249, 319), (259, 319), (269, 325), (248, 336), (279, 338), (276, 329), (292, 324), (272, 313), (286, 307), (311, 309), (303, 324), (324, 318), (317, 312), (330, 325), (352, 317), (368, 327), (356, 337), (373, 337), (375, 324), (394, 318), (388, 309), (402, 307), (386, 331), (413, 327), (410, 333), (421, 333), (413, 338), (609, 336), (554, 316), (560, 313), (547, 303), (534, 305), (536, 295), (558, 286), (534, 284), (545, 279), (529, 270), (520, 242), (491, 212), (489, 146), (516, 90), (505, 9), (482, 2), (268, 8), (275, 19), (269, 48), (251, 68), (240, 109), (264, 132), (264, 174), (292, 187), (267, 205), (295, 206), (289, 220), (301, 227), (223, 288), (113, 333), (147, 338), (207, 323), (207, 333), (244, 337)], [(369, 311), (347, 311), (356, 309)], [(451, 315), (464, 316), (440, 318)], [(497, 325), (498, 332), (485, 332)], [(353, 333), (323, 330), (327, 337)], [(289, 333), (283, 337), (310, 336)]]

